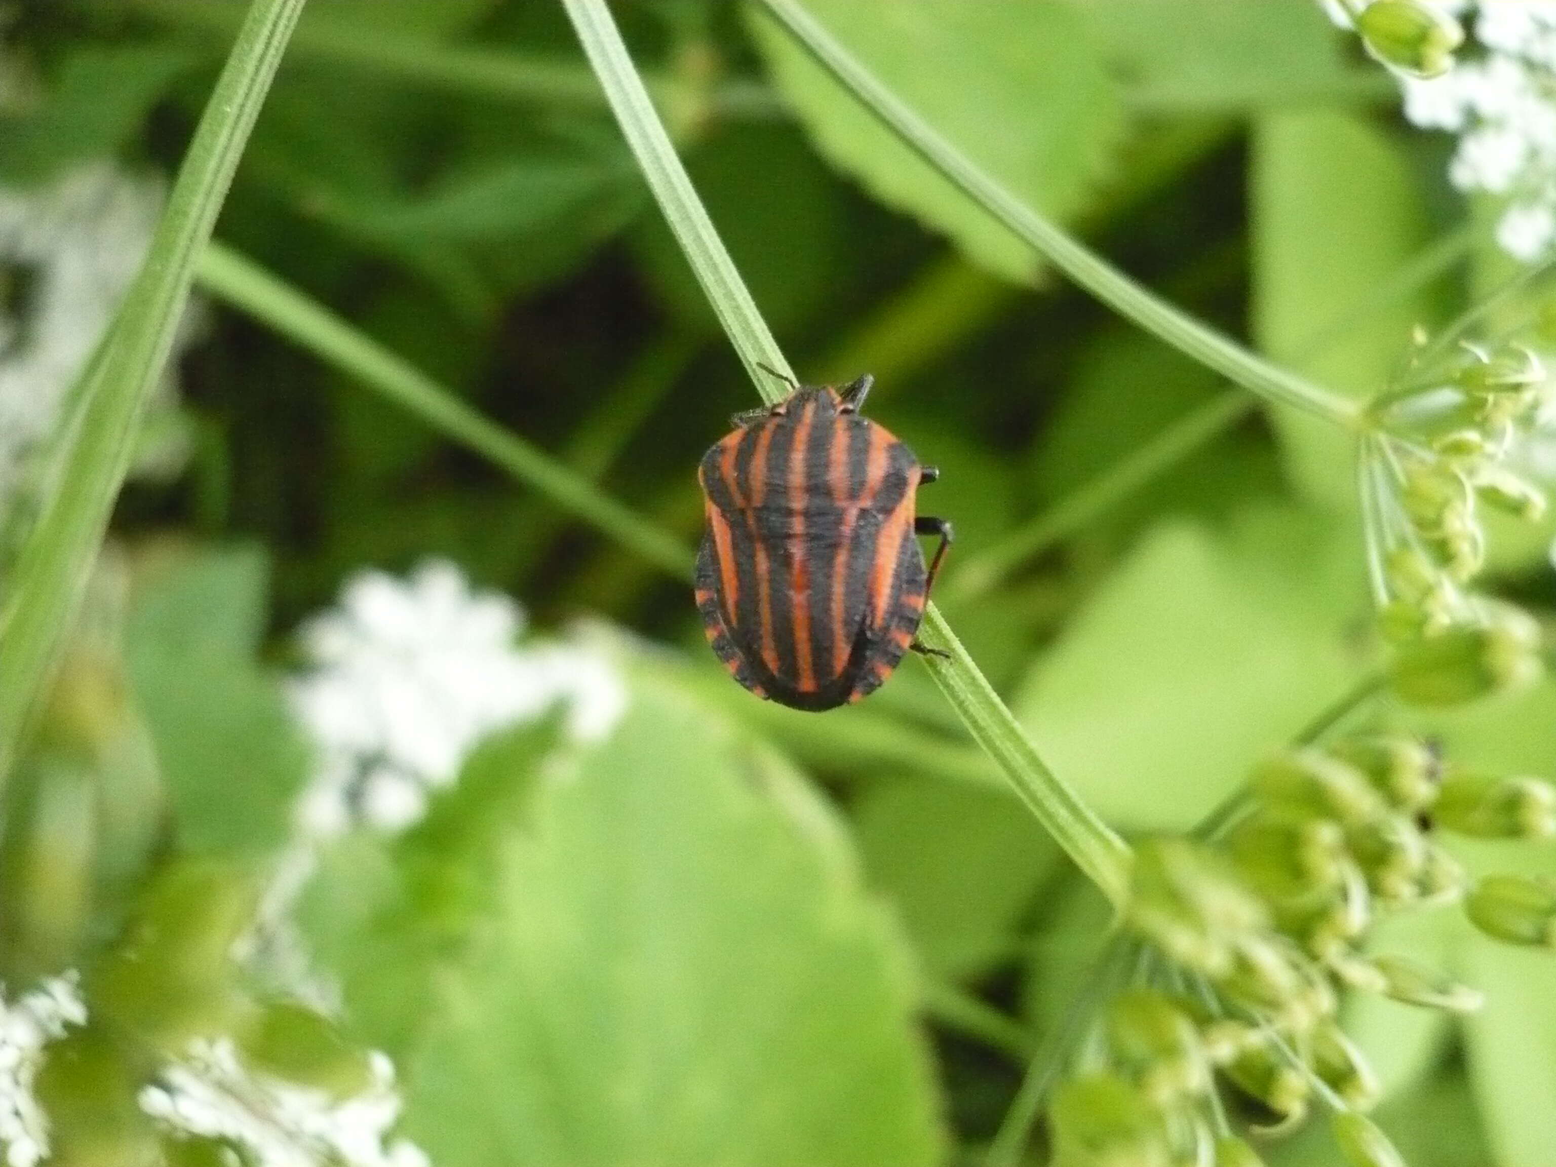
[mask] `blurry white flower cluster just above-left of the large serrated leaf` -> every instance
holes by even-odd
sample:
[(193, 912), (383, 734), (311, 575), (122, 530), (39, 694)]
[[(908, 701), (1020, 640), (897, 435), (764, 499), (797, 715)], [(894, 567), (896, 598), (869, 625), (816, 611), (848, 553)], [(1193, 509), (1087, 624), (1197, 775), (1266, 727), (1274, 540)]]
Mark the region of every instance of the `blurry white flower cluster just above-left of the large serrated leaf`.
[(571, 644), (520, 646), (523, 627), (523, 608), (471, 591), (447, 562), (347, 584), (341, 607), (303, 629), (311, 669), (291, 691), (319, 752), (302, 834), (409, 826), (482, 738), (557, 703), (574, 738), (610, 733), (627, 702), (616, 669)]

